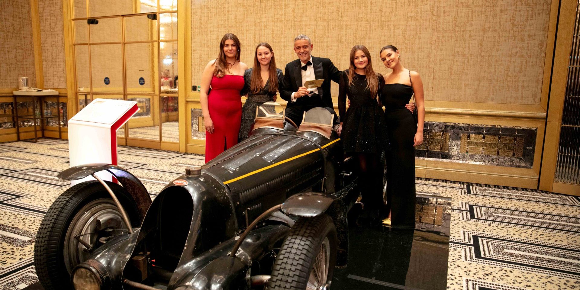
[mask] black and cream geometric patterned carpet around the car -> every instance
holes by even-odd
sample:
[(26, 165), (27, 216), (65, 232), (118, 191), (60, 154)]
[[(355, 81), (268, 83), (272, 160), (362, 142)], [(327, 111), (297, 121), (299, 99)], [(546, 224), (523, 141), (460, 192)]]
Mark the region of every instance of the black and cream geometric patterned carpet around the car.
[[(155, 197), (204, 157), (119, 146), (119, 166)], [(37, 281), (34, 237), (70, 184), (66, 140), (0, 143), (0, 289)], [(538, 190), (418, 179), (417, 193), (452, 198), (447, 289), (580, 289), (580, 198)]]

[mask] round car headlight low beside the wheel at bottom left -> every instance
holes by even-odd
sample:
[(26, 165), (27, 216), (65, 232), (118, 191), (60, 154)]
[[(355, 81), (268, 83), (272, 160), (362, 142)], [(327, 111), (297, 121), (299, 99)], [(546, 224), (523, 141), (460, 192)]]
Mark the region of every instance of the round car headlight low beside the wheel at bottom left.
[(110, 277), (103, 264), (92, 259), (75, 267), (72, 280), (75, 290), (101, 290), (110, 284)]

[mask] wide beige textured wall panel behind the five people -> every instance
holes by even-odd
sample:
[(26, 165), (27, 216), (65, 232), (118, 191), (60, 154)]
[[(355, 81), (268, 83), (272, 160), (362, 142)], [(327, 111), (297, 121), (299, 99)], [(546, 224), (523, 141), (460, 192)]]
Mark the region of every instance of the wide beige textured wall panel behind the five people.
[(313, 55), (340, 70), (352, 46), (364, 44), (386, 73), (378, 52), (397, 46), (404, 66), (422, 75), (427, 100), (539, 104), (549, 10), (549, 0), (192, 1), (192, 84), (226, 32), (240, 38), (249, 66), (255, 45), (269, 42), (282, 70), (303, 33)]

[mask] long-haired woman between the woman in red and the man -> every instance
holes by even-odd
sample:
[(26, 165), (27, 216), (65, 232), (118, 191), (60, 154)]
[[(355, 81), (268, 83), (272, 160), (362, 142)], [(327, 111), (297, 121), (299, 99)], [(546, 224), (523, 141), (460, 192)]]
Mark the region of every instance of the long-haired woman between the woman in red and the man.
[(254, 119), (256, 107), (263, 103), (276, 101), (278, 85), (282, 84), (284, 74), (280, 68), (276, 68), (274, 52), (266, 42), (256, 46), (254, 66), (245, 71), (244, 89), (242, 95), (248, 93), (248, 99), (242, 107), (242, 124), (240, 126), (240, 142), (248, 137)]

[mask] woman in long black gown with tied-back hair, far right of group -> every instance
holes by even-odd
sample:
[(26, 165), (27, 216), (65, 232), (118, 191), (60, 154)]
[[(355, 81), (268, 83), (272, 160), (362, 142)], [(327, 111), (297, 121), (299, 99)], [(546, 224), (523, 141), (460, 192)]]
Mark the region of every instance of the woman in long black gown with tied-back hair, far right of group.
[[(394, 46), (385, 46), (379, 55), (385, 66), (393, 70), (385, 75), (385, 86), (381, 91), (390, 140), (386, 194), (390, 214), (385, 223), (393, 227), (415, 227), (415, 146), (423, 143), (423, 84), (418, 73), (403, 67), (400, 53)], [(405, 108), (413, 93), (418, 111), (417, 123)]]

